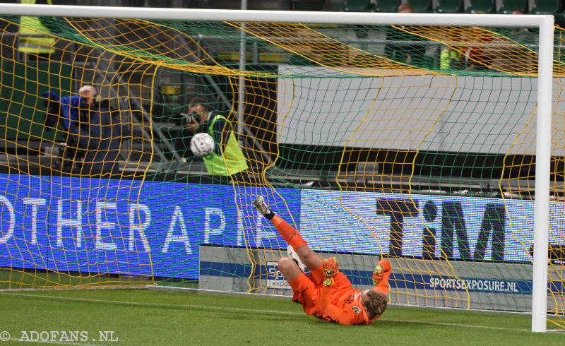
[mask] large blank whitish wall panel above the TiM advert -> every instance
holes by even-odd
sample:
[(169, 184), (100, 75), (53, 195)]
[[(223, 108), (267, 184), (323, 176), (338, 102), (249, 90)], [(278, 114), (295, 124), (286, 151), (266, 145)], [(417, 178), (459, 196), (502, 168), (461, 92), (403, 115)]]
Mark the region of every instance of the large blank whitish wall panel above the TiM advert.
[[(383, 71), (280, 65), (280, 143), (533, 153), (537, 78), (359, 76)], [(357, 74), (355, 74), (357, 73)], [(292, 78), (284, 78), (285, 75)], [(561, 83), (557, 80), (556, 83)], [(556, 84), (557, 85), (557, 84)], [(565, 95), (554, 88), (554, 97)], [(557, 103), (555, 111), (565, 112)], [(531, 146), (511, 145), (532, 143)], [(421, 145), (421, 146), (420, 146)]]

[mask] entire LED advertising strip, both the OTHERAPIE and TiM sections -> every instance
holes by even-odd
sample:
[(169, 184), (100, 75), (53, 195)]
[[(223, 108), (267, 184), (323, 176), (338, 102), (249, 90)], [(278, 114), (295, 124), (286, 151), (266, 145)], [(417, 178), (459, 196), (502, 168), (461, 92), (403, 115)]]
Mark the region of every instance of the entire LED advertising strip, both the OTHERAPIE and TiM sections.
[[(270, 189), (0, 174), (0, 191), (3, 267), (197, 279), (200, 244), (286, 246), (251, 206)], [(268, 203), (316, 251), (530, 263), (533, 201), (277, 192)], [(550, 204), (552, 229), (564, 212)]]

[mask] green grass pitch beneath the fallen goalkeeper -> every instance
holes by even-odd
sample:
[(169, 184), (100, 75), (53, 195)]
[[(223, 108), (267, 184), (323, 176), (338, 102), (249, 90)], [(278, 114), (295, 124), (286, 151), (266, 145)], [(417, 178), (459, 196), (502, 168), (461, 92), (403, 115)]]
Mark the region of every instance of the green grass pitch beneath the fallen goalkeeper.
[[(82, 341), (49, 342), (56, 345), (565, 343), (563, 332), (531, 333), (528, 315), (389, 306), (371, 326), (339, 326), (306, 316), (299, 304), (281, 297), (143, 289), (4, 290), (0, 291), (0, 304), (4, 312), (0, 333), (10, 335), (5, 345), (22, 345), (18, 340), (24, 331), (28, 337), (32, 336), (30, 331), (88, 335)], [(549, 323), (548, 328), (553, 325)], [(100, 331), (112, 332), (104, 334), (107, 341)], [(26, 345), (30, 344), (35, 342)]]

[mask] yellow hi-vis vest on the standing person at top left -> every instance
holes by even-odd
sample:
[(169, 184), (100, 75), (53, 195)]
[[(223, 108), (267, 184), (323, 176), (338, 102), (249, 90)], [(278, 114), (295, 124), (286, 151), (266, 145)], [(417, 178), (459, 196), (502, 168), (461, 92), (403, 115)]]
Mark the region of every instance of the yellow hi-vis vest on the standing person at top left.
[[(35, 0), (21, 0), (22, 4), (35, 4)], [(51, 5), (51, 0), (47, 0), (47, 4)], [(38, 31), (39, 30), (39, 31)], [(20, 37), (18, 51), (28, 54), (48, 54), (55, 51), (55, 39), (48, 36), (28, 37), (28, 35), (45, 35), (49, 33), (49, 29), (40, 22), (38, 17), (21, 16), (20, 17)]]

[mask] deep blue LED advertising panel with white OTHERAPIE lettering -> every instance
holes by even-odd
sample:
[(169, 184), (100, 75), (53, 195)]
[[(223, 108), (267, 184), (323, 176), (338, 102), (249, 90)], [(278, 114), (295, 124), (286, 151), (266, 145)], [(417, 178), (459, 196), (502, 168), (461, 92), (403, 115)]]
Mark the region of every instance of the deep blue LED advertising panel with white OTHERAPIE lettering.
[[(249, 205), (260, 192), (238, 189)], [(285, 244), (272, 231), (244, 239), (240, 220), (263, 217), (238, 217), (233, 186), (0, 174), (0, 191), (3, 267), (197, 279), (200, 244)], [(298, 215), (299, 190), (278, 192)]]

